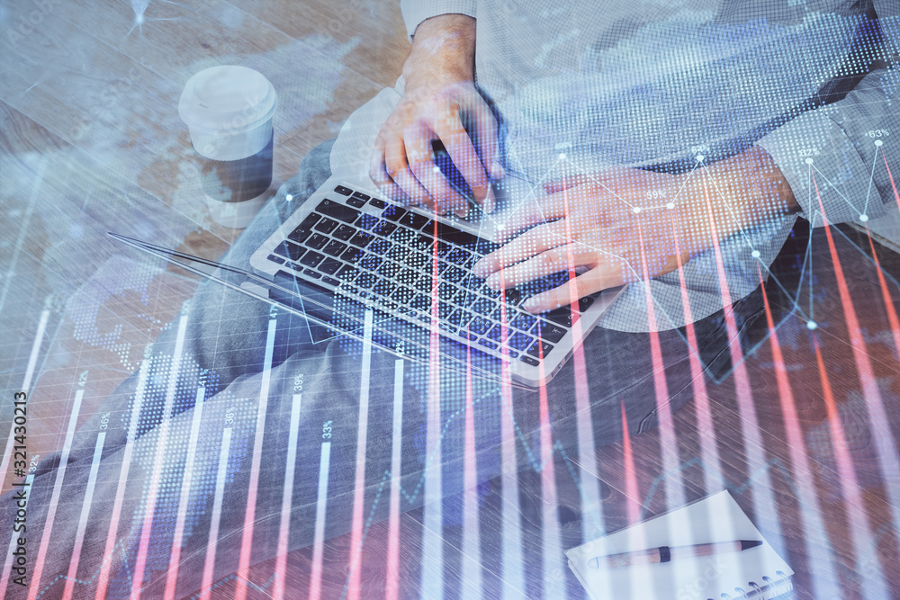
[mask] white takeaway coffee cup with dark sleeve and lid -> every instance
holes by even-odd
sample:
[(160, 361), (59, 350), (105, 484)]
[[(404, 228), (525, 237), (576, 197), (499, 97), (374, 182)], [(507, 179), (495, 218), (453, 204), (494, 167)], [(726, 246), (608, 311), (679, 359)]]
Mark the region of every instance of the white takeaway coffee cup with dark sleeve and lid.
[(222, 225), (247, 227), (268, 199), (276, 105), (275, 88), (252, 68), (211, 67), (184, 85), (178, 114), (200, 156), (211, 217)]

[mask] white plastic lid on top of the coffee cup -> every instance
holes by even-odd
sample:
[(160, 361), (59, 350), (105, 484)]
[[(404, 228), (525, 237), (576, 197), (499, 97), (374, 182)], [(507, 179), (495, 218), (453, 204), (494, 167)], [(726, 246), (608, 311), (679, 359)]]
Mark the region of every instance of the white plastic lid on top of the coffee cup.
[(250, 130), (272, 118), (278, 99), (262, 73), (238, 65), (210, 67), (184, 85), (178, 114), (191, 129)]

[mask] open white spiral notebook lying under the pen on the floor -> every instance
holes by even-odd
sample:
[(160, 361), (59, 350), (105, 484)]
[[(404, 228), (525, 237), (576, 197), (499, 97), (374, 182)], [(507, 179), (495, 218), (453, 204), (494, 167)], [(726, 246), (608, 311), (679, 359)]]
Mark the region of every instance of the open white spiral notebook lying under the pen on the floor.
[[(763, 543), (745, 551), (652, 565), (614, 569), (589, 564), (595, 557), (618, 552), (732, 540)], [(725, 490), (572, 548), (566, 556), (569, 568), (594, 600), (767, 600), (793, 589), (794, 571)]]

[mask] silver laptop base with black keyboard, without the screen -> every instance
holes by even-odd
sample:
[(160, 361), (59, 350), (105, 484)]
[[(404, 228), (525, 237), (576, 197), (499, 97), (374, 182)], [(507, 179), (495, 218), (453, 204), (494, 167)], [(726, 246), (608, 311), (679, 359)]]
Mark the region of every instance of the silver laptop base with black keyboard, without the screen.
[[(471, 201), (446, 151), (435, 149), (437, 167)], [(279, 288), (293, 287), (300, 298), (317, 296), (306, 309), (330, 301), (333, 315), (316, 317), (334, 333), (358, 327), (362, 317), (352, 318), (353, 307), (357, 315), (372, 309), (383, 329), (401, 319), (437, 331), (464, 349), (466, 360), (500, 361), (512, 381), (539, 387), (563, 368), (621, 288), (534, 315), (522, 309), (525, 300), (568, 281), (567, 272), (506, 291), (486, 286), (473, 274), (473, 264), (500, 247), (504, 225), (538, 199), (539, 188), (509, 170), (492, 186), (498, 208), (484, 214), (471, 201), (469, 216), (460, 219), (402, 205), (373, 193), (371, 184), (332, 176), (259, 246), (250, 265)], [(273, 300), (296, 306), (293, 297), (278, 294), (270, 291)], [(391, 341), (373, 341), (396, 350)]]

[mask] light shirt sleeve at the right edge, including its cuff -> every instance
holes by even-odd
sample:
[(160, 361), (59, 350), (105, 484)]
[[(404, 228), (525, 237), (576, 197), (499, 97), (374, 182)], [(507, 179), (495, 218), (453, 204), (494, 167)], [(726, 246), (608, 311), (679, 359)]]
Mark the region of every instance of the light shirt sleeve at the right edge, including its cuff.
[[(822, 225), (885, 213), (900, 185), (900, 3), (875, 0), (883, 41), (874, 68), (842, 100), (805, 112), (758, 144), (781, 169), (801, 215)], [(891, 171), (890, 169), (893, 169)]]

